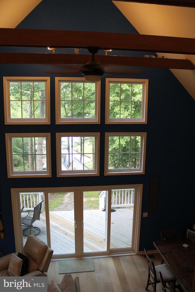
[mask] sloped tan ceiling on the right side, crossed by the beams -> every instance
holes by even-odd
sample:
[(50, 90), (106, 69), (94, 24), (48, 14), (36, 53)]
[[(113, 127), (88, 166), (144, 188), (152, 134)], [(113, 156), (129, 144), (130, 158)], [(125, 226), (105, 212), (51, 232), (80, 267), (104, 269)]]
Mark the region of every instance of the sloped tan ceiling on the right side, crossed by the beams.
[[(195, 38), (195, 8), (193, 7), (112, 2), (140, 34)], [(195, 64), (195, 55), (166, 54), (166, 57), (189, 59)], [(195, 99), (195, 70), (170, 70)]]

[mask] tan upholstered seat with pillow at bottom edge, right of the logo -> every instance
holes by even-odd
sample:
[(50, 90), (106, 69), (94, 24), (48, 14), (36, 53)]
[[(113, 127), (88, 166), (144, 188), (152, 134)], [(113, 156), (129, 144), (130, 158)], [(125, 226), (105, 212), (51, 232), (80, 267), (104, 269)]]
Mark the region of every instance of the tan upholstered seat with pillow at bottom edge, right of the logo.
[(52, 280), (48, 292), (80, 292), (79, 277), (73, 279), (71, 274), (65, 274), (60, 284)]

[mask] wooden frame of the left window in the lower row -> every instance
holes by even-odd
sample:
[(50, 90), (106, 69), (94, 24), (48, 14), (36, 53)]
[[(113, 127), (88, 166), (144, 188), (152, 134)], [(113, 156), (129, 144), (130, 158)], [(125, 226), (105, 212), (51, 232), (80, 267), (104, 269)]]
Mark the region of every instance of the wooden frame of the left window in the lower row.
[[(14, 171), (12, 159), (12, 137), (46, 137), (46, 163), (45, 171)], [(50, 133), (6, 133), (6, 158), (8, 178), (16, 177), (51, 177), (51, 138)]]

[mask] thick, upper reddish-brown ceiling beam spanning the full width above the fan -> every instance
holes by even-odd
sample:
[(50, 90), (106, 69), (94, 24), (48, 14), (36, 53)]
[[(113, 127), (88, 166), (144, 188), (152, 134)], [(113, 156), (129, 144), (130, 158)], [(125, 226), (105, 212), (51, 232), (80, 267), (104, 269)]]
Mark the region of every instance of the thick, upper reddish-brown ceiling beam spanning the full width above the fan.
[(0, 47), (54, 47), (195, 54), (195, 39), (129, 33), (0, 28)]

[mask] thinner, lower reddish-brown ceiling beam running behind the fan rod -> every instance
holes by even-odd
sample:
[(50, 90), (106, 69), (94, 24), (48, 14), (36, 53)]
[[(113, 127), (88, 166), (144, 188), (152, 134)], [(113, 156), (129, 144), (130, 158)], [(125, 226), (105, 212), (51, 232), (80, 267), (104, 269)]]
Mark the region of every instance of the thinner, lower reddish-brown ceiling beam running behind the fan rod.
[[(90, 61), (90, 56), (84, 54), (0, 53), (1, 64), (83, 65), (88, 61)], [(195, 66), (190, 60), (182, 59), (96, 55), (95, 61), (102, 65), (113, 64), (148, 68), (195, 69)]]

